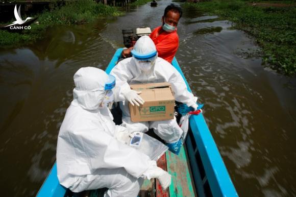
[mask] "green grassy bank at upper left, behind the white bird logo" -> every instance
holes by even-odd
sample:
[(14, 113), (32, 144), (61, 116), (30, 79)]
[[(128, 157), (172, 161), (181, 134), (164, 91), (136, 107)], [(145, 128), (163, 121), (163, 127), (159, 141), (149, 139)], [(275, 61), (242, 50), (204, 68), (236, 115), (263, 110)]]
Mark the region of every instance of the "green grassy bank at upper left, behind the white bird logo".
[[(119, 16), (120, 12), (116, 7), (95, 3), (92, 0), (81, 0), (73, 3), (66, 3), (62, 7), (52, 5), (51, 9), (38, 14), (38, 23), (32, 23), (30, 30), (21, 33), (11, 33), (0, 30), (0, 47), (18, 46), (41, 39), (48, 27), (61, 24), (81, 24), (94, 21), (97, 18), (106, 16)], [(32, 17), (32, 16), (30, 16)]]

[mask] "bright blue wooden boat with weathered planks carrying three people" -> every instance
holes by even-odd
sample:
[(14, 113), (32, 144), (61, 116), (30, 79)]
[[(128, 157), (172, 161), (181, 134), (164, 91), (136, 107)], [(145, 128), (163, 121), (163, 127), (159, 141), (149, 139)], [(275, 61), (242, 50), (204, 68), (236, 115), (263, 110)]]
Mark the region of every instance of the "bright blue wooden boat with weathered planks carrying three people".
[[(116, 65), (121, 52), (122, 48), (115, 52), (107, 73)], [(172, 65), (181, 73), (187, 89), (191, 91), (176, 58)], [(145, 180), (139, 196), (238, 196), (203, 115), (191, 115), (189, 124), (188, 136), (179, 156), (167, 151), (157, 162), (172, 175), (170, 187), (163, 191), (158, 181)], [(102, 196), (104, 191), (91, 190), (87, 193), (87, 196)], [(37, 196), (72, 195), (59, 184), (55, 163)]]

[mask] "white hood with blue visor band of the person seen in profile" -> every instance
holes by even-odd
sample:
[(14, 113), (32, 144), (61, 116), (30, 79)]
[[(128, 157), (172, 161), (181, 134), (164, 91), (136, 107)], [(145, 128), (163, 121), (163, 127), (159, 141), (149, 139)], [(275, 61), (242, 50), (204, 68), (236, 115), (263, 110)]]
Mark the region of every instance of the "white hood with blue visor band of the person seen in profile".
[(84, 109), (97, 109), (103, 102), (106, 89), (115, 85), (113, 76), (101, 69), (94, 67), (80, 68), (73, 77), (75, 88), (73, 99)]

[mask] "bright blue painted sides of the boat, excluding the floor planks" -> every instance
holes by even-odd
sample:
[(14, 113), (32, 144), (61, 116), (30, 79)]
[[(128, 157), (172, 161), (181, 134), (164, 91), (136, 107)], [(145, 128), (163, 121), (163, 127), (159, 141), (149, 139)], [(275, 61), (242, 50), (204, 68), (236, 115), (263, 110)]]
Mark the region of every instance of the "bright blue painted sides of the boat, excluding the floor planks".
[[(106, 68), (107, 73), (116, 65), (121, 52), (122, 48), (115, 52)], [(191, 92), (176, 58), (172, 65), (181, 73)], [(186, 148), (196, 192), (199, 196), (238, 196), (203, 114), (191, 115), (189, 121), (191, 130), (186, 138)], [(66, 188), (59, 184), (55, 163), (37, 197), (59, 197), (65, 192)]]

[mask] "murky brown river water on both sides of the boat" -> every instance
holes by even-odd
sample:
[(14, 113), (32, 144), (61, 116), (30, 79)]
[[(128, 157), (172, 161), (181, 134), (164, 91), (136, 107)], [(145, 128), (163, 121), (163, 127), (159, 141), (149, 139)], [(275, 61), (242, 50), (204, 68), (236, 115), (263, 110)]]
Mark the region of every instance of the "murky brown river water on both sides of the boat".
[[(105, 69), (121, 30), (161, 24), (170, 1), (0, 50), (2, 196), (34, 196), (55, 161), (73, 74)], [(182, 6), (182, 4), (181, 4)], [(240, 196), (295, 196), (296, 79), (261, 65), (254, 39), (217, 16), (184, 8), (176, 55)]]

